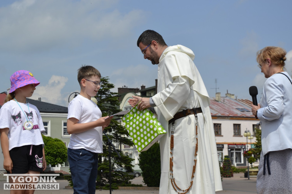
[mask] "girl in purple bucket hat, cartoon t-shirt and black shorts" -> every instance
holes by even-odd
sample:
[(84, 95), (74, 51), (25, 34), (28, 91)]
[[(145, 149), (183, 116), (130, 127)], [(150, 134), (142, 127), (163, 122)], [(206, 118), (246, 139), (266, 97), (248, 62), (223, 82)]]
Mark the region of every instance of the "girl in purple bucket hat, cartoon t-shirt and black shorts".
[[(37, 176), (47, 166), (44, 141), (41, 136), (41, 132), (45, 129), (39, 110), (36, 106), (27, 103), (26, 98), (32, 96), (39, 81), (26, 70), (13, 73), (10, 81), (9, 94), (0, 109), (0, 140), (4, 168), (8, 174)], [(32, 177), (26, 180), (34, 179)], [(19, 183), (18, 178), (9, 178), (9, 183)], [(10, 193), (16, 191), (19, 190), (10, 190)], [(33, 192), (29, 191), (29, 193)]]

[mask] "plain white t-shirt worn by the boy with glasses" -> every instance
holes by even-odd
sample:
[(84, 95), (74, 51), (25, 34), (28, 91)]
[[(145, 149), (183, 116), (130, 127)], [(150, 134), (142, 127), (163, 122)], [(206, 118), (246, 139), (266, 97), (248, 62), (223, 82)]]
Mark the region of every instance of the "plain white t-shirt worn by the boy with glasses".
[[(89, 123), (99, 119), (101, 117), (101, 111), (92, 100), (78, 95), (69, 103), (68, 106), (67, 119), (72, 117), (78, 119), (78, 123)], [(68, 148), (84, 148), (94, 153), (103, 153), (102, 127), (95, 127), (81, 133), (72, 134)]]

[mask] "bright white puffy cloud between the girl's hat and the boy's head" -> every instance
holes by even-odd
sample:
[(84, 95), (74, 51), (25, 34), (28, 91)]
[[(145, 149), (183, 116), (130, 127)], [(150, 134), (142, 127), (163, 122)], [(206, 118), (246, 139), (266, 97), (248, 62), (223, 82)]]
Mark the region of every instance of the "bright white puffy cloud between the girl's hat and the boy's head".
[(48, 84), (44, 85), (41, 83), (36, 87), (34, 95), (31, 98), (37, 100), (41, 97), (44, 102), (64, 105), (65, 99), (61, 92), (67, 81), (67, 77), (52, 75)]

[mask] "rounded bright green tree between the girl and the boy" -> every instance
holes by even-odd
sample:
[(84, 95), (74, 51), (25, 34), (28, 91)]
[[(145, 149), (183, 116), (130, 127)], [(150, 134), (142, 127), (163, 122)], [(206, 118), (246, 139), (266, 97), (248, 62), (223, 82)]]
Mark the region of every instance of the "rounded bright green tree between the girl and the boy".
[(67, 148), (58, 138), (43, 136), (46, 162), (51, 165), (62, 164), (67, 160)]

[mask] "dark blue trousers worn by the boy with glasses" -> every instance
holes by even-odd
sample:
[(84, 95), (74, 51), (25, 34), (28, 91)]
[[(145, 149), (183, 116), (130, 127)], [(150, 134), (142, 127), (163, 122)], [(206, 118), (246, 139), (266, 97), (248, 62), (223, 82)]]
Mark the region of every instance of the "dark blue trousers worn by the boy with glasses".
[(86, 149), (68, 148), (68, 161), (74, 194), (95, 193), (98, 154)]

